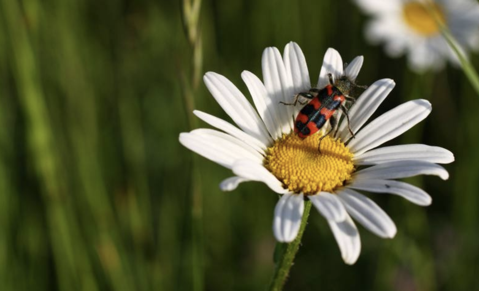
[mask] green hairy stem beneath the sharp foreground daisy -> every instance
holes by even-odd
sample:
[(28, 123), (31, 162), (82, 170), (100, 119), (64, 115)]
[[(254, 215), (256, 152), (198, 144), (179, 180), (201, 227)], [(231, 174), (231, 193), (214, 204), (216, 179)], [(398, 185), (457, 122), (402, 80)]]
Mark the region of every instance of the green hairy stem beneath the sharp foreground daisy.
[(289, 270), (293, 267), (293, 262), (299, 249), (299, 245), (301, 244), (301, 238), (303, 237), (306, 224), (308, 224), (310, 210), (311, 201), (305, 201), (301, 226), (294, 241), (289, 244), (276, 243), (274, 248), (274, 263), (276, 264), (276, 267), (274, 269), (273, 279), (268, 288), (269, 291), (283, 290), (283, 286), (288, 278)]

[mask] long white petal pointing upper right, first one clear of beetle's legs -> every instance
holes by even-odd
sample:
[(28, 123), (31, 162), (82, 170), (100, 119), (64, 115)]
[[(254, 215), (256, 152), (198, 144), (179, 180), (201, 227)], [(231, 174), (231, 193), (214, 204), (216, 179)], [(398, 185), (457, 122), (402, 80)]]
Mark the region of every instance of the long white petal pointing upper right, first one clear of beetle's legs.
[[(355, 156), (379, 146), (421, 122), (431, 112), (431, 103), (418, 99), (403, 103), (366, 125), (348, 147)], [(354, 124), (354, 123), (353, 123)]]

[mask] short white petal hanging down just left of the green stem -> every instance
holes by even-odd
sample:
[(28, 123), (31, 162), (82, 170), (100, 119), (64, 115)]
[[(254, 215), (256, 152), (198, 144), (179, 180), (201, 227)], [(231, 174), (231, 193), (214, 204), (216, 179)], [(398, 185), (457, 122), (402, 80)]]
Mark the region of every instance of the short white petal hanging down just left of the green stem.
[(281, 196), (274, 208), (273, 233), (277, 241), (290, 243), (296, 238), (303, 212), (303, 194), (287, 193)]

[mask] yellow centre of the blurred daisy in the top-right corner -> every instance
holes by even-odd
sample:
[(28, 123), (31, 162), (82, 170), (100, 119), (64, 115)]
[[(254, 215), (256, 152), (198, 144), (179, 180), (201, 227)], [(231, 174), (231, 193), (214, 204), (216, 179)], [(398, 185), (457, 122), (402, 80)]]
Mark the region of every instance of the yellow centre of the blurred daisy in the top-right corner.
[[(425, 5), (428, 5), (428, 7)], [(432, 1), (425, 3), (419, 1), (407, 2), (403, 6), (402, 16), (409, 27), (424, 36), (430, 36), (439, 32), (439, 24), (437, 22), (445, 24), (445, 14), (442, 7)]]

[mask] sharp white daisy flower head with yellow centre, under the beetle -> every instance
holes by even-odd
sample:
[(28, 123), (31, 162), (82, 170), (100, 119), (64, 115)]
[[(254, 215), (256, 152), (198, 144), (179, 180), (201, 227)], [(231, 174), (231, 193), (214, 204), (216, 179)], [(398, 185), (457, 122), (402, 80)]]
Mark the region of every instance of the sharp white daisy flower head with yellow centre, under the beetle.
[[(354, 82), (363, 64), (358, 56), (343, 69), (339, 53), (329, 48), (324, 56), (318, 88), (346, 76)], [(183, 146), (233, 171), (233, 177), (220, 183), (230, 191), (245, 181), (261, 181), (281, 194), (274, 209), (273, 232), (279, 242), (291, 242), (297, 236), (305, 200), (328, 221), (347, 264), (359, 256), (361, 241), (351, 216), (374, 234), (392, 238), (393, 221), (374, 201), (359, 191), (396, 194), (419, 204), (429, 205), (431, 197), (423, 190), (394, 179), (415, 175), (448, 178), (436, 163), (454, 160), (448, 150), (426, 145), (402, 145), (376, 148), (422, 121), (430, 112), (426, 100), (406, 102), (363, 126), (393, 89), (391, 79), (369, 86), (349, 110), (352, 138), (347, 123), (322, 139), (318, 134), (301, 139), (294, 133), (294, 117), (301, 106), (286, 106), (300, 92), (311, 87), (305, 57), (296, 43), (285, 47), (284, 55), (268, 47), (262, 55), (263, 82), (249, 71), (242, 79), (255, 108), (227, 78), (213, 72), (205, 74), (206, 87), (235, 126), (208, 113), (194, 111), (201, 120), (216, 127), (195, 129), (180, 134)]]

